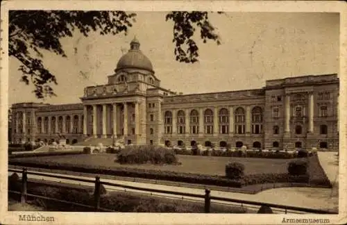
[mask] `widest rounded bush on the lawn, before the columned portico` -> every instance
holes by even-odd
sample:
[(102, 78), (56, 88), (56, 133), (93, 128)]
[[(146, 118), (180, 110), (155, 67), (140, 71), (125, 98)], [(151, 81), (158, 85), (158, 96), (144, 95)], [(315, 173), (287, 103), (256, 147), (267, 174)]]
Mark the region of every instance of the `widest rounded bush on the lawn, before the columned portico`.
[(116, 159), (121, 164), (174, 164), (178, 163), (176, 154), (171, 149), (155, 145), (128, 146), (121, 150)]

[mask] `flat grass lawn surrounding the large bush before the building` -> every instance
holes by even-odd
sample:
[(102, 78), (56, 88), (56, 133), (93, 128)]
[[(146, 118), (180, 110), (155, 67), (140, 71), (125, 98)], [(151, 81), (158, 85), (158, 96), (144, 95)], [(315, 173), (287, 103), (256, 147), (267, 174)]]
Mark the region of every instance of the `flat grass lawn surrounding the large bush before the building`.
[(182, 165), (121, 165), (115, 163), (113, 154), (93, 155), (70, 155), (70, 156), (42, 156), (29, 158), (15, 158), (14, 162), (37, 162), (37, 163), (68, 163), (71, 165), (90, 165), (91, 167), (130, 167), (137, 169), (154, 169), (179, 173), (225, 175), (225, 166), (230, 161), (243, 163), (245, 174), (280, 174), (287, 173), (287, 163), (293, 159), (271, 159), (271, 158), (227, 158), (218, 156), (184, 156), (178, 155), (178, 161)]

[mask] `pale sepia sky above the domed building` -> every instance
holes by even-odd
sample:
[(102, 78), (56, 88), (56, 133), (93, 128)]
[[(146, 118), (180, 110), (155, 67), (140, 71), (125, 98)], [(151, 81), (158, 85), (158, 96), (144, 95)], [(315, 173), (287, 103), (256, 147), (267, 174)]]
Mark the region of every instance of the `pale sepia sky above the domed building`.
[(62, 39), (67, 58), (44, 51), (44, 65), (58, 80), (53, 85), (57, 97), (36, 99), (33, 86), (19, 81), (19, 62), (10, 58), (9, 104), (81, 102), (83, 88), (107, 83), (134, 36), (162, 88), (183, 94), (262, 88), (269, 79), (339, 73), (337, 13), (213, 13), (210, 22), (221, 45), (203, 44), (198, 35), (194, 37), (200, 54), (194, 64), (176, 62), (173, 23), (165, 21), (167, 12), (136, 13), (137, 22), (126, 36), (91, 33), (85, 38), (76, 32)]

